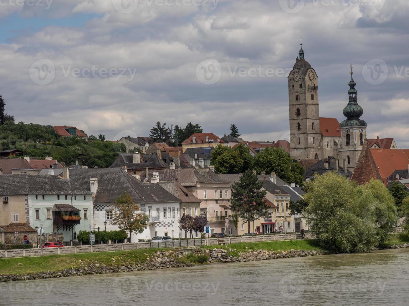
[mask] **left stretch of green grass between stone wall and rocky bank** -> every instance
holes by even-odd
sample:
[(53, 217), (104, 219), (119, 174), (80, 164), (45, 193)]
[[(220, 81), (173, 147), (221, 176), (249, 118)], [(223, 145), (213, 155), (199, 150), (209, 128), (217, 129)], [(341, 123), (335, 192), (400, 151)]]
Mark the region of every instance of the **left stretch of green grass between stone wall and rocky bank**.
[[(146, 262), (158, 249), (141, 249), (133, 251), (47, 255), (38, 257), (2, 258), (0, 259), (0, 274), (24, 275), (44, 271), (61, 271), (79, 268), (89, 262), (98, 262), (107, 266), (118, 266), (126, 263)], [(147, 255), (145, 255), (147, 254)], [(115, 259), (115, 262), (112, 260)], [(80, 261), (81, 260), (81, 261)]]

